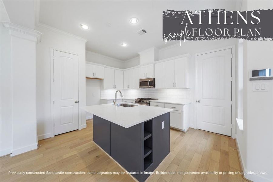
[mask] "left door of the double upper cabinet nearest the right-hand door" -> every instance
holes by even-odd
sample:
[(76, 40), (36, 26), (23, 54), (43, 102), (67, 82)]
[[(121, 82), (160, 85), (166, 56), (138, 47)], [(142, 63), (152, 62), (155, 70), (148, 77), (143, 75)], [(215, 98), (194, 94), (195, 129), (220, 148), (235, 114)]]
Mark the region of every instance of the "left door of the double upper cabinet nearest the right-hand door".
[(175, 60), (164, 62), (164, 88), (175, 86)]

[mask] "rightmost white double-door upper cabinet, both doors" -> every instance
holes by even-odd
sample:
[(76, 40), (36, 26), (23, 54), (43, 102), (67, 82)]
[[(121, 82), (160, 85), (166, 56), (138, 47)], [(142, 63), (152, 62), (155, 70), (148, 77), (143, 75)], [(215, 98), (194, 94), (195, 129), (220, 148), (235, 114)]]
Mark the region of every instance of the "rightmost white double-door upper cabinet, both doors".
[(164, 88), (188, 88), (187, 57), (164, 62)]

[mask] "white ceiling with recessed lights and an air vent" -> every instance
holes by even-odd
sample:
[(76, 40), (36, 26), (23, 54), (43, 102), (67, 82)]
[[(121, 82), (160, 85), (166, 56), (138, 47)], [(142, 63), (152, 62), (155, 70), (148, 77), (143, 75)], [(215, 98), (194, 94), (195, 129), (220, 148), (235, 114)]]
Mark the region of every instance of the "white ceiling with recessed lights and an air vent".
[[(138, 56), (137, 52), (157, 47), (158, 49), (177, 43), (162, 40), (162, 11), (226, 9), (237, 10), (236, 0), (210, 1), (87, 1), (51, 0), (40, 1), (39, 21), (65, 32), (88, 40), (86, 50), (97, 52), (120, 60)], [(138, 18), (132, 25), (129, 20)], [(111, 26), (107, 26), (108, 22)], [(83, 30), (80, 24), (90, 29)], [(136, 32), (144, 28), (147, 33)], [(121, 43), (128, 43), (122, 47)]]

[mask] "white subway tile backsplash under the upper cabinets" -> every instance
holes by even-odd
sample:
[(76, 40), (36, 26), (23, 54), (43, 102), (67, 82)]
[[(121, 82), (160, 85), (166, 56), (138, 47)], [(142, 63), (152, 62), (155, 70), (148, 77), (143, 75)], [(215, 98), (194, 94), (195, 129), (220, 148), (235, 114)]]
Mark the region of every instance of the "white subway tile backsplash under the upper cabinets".
[[(101, 98), (114, 98), (116, 91), (115, 89), (101, 89)], [(121, 91), (122, 95), (126, 98), (191, 99), (191, 89), (132, 89)], [(120, 98), (120, 94), (117, 97)]]

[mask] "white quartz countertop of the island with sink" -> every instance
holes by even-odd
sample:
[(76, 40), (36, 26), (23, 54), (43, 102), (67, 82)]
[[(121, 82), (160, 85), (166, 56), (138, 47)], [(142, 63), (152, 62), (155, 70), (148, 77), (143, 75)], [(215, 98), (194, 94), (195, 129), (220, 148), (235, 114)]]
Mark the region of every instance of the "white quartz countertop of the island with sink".
[(81, 109), (125, 128), (172, 111), (172, 109), (168, 108), (143, 105), (137, 105), (135, 107), (114, 106), (112, 103), (85, 106)]

